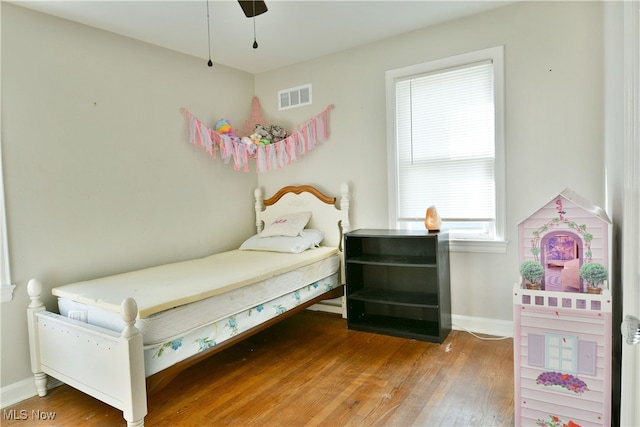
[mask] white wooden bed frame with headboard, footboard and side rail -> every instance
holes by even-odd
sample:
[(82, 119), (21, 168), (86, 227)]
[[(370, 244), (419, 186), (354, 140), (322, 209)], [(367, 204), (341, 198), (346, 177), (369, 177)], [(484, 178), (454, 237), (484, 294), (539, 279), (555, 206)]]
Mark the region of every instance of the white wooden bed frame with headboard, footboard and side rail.
[[(324, 231), (324, 245), (339, 247), (342, 253), (343, 233), (350, 231), (349, 189), (341, 186), (340, 206), (336, 198), (323, 195), (314, 187), (289, 186), (264, 200), (255, 190), (256, 228), (284, 213), (313, 212), (309, 228)], [(341, 283), (344, 282), (344, 260)], [(132, 298), (121, 304), (126, 325), (122, 333), (72, 320), (46, 311), (40, 299), (42, 285), (31, 279), (27, 286), (31, 303), (27, 308), (31, 370), (39, 396), (47, 394), (48, 376), (120, 409), (128, 426), (144, 425), (147, 395), (161, 389), (187, 367), (271, 326), (323, 299), (342, 295), (343, 287), (300, 305), (296, 310), (255, 327), (207, 351), (189, 357), (174, 366), (145, 378), (143, 337), (135, 327), (138, 307)]]

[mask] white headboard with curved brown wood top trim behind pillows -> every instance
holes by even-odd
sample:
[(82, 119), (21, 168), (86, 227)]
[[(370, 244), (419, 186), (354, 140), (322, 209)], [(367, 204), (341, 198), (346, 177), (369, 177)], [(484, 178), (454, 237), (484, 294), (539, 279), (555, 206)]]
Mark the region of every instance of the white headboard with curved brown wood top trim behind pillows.
[(294, 212), (310, 211), (311, 220), (307, 228), (324, 232), (324, 246), (334, 246), (342, 251), (342, 236), (351, 230), (349, 222), (349, 186), (340, 186), (340, 203), (337, 198), (322, 194), (311, 185), (288, 186), (280, 189), (268, 199), (263, 199), (262, 190), (254, 192), (256, 203), (256, 229), (262, 231), (278, 217)]

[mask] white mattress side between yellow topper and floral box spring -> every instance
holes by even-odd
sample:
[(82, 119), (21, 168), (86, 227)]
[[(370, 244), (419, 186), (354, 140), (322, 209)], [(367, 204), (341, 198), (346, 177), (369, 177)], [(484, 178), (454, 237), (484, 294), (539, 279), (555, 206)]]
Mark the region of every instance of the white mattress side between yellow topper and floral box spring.
[[(310, 252), (310, 251), (307, 251)], [(294, 292), (340, 269), (340, 256), (332, 254), (296, 270), (280, 273), (259, 282), (231, 289), (190, 304), (151, 314), (136, 320), (145, 345), (171, 341), (200, 326), (238, 314), (274, 298)], [(87, 305), (66, 297), (58, 298), (60, 314), (92, 325), (120, 332), (124, 323), (119, 313), (99, 305)]]

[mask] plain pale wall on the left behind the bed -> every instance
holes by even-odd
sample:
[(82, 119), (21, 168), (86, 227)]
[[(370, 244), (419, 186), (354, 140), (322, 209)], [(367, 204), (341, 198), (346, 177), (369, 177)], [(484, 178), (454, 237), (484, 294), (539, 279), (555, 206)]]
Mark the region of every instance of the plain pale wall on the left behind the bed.
[[(254, 173), (187, 142), (186, 107), (241, 124), (253, 75), (2, 7), (2, 150), (14, 299), (0, 307), (2, 386), (31, 377), (26, 283), (205, 256), (253, 231)], [(229, 203), (229, 201), (233, 203)], [(49, 309), (55, 302), (46, 300)]]

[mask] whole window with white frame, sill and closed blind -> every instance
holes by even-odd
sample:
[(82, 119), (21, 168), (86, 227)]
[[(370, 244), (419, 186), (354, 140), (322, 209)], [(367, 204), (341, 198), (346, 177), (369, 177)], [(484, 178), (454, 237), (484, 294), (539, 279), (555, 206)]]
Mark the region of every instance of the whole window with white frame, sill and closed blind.
[(503, 56), (500, 46), (387, 72), (391, 228), (424, 229), (434, 205), (453, 250), (506, 248)]

